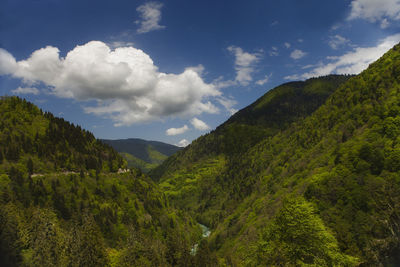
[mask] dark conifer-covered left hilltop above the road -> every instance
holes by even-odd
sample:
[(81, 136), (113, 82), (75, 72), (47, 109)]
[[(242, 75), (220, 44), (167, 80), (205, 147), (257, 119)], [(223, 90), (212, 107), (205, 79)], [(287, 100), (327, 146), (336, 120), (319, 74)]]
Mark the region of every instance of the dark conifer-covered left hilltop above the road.
[(0, 144), (6, 164), (25, 162), (31, 174), (50, 169), (117, 171), (123, 166), (118, 153), (92, 133), (15, 96), (0, 99)]

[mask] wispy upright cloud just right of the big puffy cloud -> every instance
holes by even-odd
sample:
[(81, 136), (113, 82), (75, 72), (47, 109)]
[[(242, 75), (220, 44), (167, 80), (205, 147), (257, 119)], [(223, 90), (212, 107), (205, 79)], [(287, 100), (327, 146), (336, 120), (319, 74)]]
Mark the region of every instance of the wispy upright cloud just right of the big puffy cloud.
[(237, 46), (229, 46), (228, 50), (235, 55), (236, 78), (240, 85), (248, 85), (252, 80), (255, 64), (260, 60), (260, 53), (244, 52)]

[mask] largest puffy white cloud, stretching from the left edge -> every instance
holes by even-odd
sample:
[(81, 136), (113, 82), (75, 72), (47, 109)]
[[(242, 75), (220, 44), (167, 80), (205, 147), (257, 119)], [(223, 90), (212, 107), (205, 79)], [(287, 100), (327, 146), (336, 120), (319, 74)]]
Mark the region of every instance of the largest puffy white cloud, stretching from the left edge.
[(134, 47), (111, 50), (91, 41), (60, 58), (56, 47), (36, 50), (16, 62), (0, 50), (0, 73), (21, 78), (27, 84), (44, 83), (51, 93), (77, 100), (97, 100), (85, 111), (107, 116), (116, 126), (159, 120), (169, 116), (217, 113), (211, 103), (221, 92), (207, 84), (198, 67), (180, 74), (158, 71), (149, 55)]

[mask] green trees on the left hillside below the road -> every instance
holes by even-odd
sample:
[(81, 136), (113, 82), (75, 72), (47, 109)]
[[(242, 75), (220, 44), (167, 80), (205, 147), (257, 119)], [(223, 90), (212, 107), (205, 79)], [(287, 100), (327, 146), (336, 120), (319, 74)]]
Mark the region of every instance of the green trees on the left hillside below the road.
[(51, 173), (13, 183), (15, 175), (0, 180), (1, 264), (170, 266), (199, 238), (192, 220), (138, 172)]

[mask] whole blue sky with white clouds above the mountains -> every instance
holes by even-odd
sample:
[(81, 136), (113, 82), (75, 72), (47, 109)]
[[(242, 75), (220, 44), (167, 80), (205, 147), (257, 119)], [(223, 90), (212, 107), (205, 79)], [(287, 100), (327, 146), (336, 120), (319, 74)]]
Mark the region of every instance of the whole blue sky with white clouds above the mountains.
[(0, 95), (93, 132), (185, 146), (293, 80), (358, 74), (400, 0), (2, 0)]

